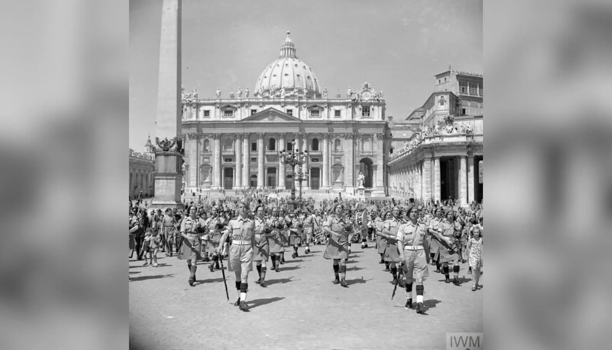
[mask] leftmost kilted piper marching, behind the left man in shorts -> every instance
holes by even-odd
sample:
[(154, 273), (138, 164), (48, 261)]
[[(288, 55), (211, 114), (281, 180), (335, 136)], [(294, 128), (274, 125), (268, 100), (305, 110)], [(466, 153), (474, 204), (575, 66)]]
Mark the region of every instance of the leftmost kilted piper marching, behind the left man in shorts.
[(195, 272), (197, 270), (197, 262), (202, 259), (202, 245), (200, 242), (201, 235), (204, 234), (204, 220), (196, 218), (198, 208), (191, 205), (187, 209), (188, 216), (182, 220), (181, 236), (183, 242), (179, 251), (179, 260), (187, 260), (187, 268), (189, 269), (189, 285), (193, 286), (196, 280)]

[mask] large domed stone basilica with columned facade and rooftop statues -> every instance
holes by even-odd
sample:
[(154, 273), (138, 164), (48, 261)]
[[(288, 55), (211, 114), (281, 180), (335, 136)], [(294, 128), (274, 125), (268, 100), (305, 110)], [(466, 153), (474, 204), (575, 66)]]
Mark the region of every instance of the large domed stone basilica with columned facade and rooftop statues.
[[(185, 190), (297, 188), (297, 170), (308, 173), (302, 189), (353, 193), (362, 172), (366, 194), (384, 196), (383, 91), (366, 82), (330, 97), (320, 86), (287, 32), (253, 91), (238, 88), (223, 98), (217, 88), (214, 99), (199, 99), (196, 89), (184, 93)], [(301, 169), (279, 164), (278, 152), (292, 142), (308, 151)]]

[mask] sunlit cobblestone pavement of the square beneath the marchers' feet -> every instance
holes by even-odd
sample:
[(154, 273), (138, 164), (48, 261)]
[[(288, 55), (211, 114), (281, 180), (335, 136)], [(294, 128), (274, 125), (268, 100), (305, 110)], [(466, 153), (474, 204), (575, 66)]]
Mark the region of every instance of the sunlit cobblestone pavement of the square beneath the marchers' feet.
[[(417, 314), (404, 310), (400, 287), (391, 300), (392, 277), (378, 264), (373, 243), (353, 244), (348, 288), (331, 283), (332, 261), (323, 259), (323, 250), (314, 246), (305, 255), (300, 247), (292, 259), (287, 249), (280, 272), (267, 272), (266, 288), (255, 284), (253, 266), (248, 312), (233, 306), (233, 272), (226, 271), (228, 302), (221, 272), (211, 273), (206, 263), (198, 263), (190, 287), (185, 261), (160, 253), (155, 268), (130, 259), (130, 343), (140, 349), (445, 349), (447, 332), (482, 332), (483, 290), (471, 291), (467, 264), (461, 264), (461, 286), (444, 283), (430, 266), (427, 311)], [(416, 307), (414, 288), (412, 294)]]

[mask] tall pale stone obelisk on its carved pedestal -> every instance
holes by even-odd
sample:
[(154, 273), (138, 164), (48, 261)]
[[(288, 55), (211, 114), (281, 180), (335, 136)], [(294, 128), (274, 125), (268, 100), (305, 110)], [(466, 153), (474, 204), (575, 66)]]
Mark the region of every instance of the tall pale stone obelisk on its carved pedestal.
[[(159, 45), (159, 88), (155, 137), (155, 196), (153, 208), (176, 208), (181, 203), (181, 0), (163, 0)], [(164, 144), (165, 140), (168, 143)], [(172, 142), (175, 142), (174, 144)], [(178, 142), (178, 143), (176, 143)]]

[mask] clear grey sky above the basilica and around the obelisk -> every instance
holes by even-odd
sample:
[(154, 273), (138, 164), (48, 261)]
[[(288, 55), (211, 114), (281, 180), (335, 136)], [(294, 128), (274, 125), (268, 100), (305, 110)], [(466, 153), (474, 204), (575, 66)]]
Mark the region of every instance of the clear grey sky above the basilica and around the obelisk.
[[(155, 140), (162, 0), (130, 0), (130, 148)], [(483, 74), (482, 1), (182, 1), (182, 85), (253, 91), (286, 31), (330, 97), (364, 82), (404, 120), (453, 69)]]

